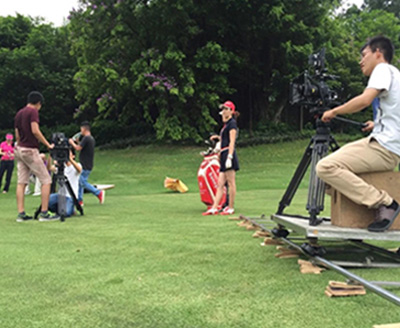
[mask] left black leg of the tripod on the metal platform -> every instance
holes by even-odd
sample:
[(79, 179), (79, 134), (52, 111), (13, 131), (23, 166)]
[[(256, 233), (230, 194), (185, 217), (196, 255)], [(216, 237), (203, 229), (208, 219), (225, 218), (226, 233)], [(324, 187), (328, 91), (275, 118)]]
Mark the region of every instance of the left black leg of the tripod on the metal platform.
[(292, 180), (290, 181), (285, 194), (283, 195), (281, 201), (279, 202), (277, 214), (282, 214), (285, 207), (289, 206), (290, 203), (292, 202), (292, 199), (297, 189), (299, 188), (300, 182), (303, 179), (304, 175), (306, 174), (308, 166), (310, 165), (311, 154), (312, 154), (311, 145), (313, 144), (313, 142), (314, 141), (311, 140), (310, 143), (308, 144), (306, 151), (304, 152), (303, 157), (292, 177)]

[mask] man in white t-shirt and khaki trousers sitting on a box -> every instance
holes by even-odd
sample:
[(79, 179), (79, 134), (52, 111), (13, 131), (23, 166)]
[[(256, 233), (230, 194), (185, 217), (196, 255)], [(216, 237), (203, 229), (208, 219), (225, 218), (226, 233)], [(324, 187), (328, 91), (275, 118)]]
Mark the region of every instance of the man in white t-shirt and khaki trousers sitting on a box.
[(393, 44), (383, 36), (372, 38), (361, 49), (360, 67), (369, 81), (364, 92), (345, 104), (326, 111), (323, 122), (336, 115), (361, 111), (378, 97), (378, 115), (367, 122), (369, 137), (352, 142), (322, 159), (317, 174), (327, 184), (353, 202), (376, 209), (369, 231), (390, 228), (399, 204), (384, 190), (378, 190), (357, 176), (358, 173), (393, 170), (400, 161), (400, 72), (390, 65)]

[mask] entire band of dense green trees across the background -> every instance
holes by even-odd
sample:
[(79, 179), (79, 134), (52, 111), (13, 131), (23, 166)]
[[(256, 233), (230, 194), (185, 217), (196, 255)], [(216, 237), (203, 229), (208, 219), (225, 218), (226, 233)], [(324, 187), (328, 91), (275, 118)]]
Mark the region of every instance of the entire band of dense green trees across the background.
[(44, 124), (90, 119), (105, 142), (200, 140), (226, 99), (250, 134), (298, 124), (307, 112), (288, 105), (289, 83), (311, 53), (326, 48), (328, 71), (339, 76), (332, 85), (346, 100), (363, 89), (358, 51), (368, 37), (387, 35), (400, 49), (398, 1), (365, 0), (345, 12), (340, 4), (80, 0), (61, 28), (0, 17), (0, 129), (12, 127), (32, 89), (47, 99)]

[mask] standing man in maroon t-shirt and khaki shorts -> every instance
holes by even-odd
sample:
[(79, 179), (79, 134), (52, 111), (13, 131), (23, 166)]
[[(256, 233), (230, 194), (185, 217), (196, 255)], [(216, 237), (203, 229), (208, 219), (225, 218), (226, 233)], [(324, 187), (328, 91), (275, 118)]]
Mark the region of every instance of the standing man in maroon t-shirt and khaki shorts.
[(40, 92), (33, 91), (28, 95), (28, 104), (20, 109), (15, 116), (15, 135), (17, 146), (15, 148), (15, 157), (18, 160), (18, 185), (17, 185), (17, 222), (32, 220), (32, 217), (25, 213), (25, 187), (29, 183), (29, 175), (32, 172), (41, 182), (42, 205), (39, 218), (49, 218), (48, 204), (50, 196), (51, 178), (43, 165), (39, 156), (39, 141), (48, 149), (54, 146), (50, 145), (43, 136), (39, 128), (39, 110), (44, 103), (43, 95)]

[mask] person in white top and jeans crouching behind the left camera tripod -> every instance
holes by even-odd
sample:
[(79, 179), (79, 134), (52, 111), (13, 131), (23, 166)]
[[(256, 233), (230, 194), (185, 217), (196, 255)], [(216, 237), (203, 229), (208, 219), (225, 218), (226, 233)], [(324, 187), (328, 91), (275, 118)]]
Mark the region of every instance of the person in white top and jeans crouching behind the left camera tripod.
[[(58, 165), (58, 163), (54, 163), (56, 165)], [(65, 165), (65, 169), (64, 169), (64, 175), (65, 177), (68, 179), (72, 191), (74, 192), (75, 196), (78, 195), (78, 190), (79, 190), (79, 177), (81, 175), (82, 172), (82, 165), (80, 163), (77, 163), (75, 161), (75, 150), (70, 150), (69, 151), (69, 160), (64, 164)], [(57, 167), (56, 166), (52, 166), (52, 171), (56, 171)], [(70, 195), (68, 188), (66, 188), (66, 186), (64, 185), (63, 188), (65, 188), (65, 190), (63, 191), (64, 193), (66, 193), (66, 215), (67, 217), (72, 216), (72, 214), (74, 214), (74, 201), (73, 201), (73, 197)], [(52, 212), (57, 212), (57, 207), (58, 207), (58, 193), (54, 193), (50, 195), (50, 200), (49, 200), (49, 209)], [(57, 217), (58, 219), (59, 217)], [(55, 219), (55, 218), (53, 218)], [(44, 221), (39, 219), (40, 221)]]

